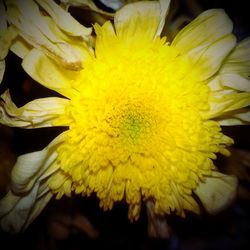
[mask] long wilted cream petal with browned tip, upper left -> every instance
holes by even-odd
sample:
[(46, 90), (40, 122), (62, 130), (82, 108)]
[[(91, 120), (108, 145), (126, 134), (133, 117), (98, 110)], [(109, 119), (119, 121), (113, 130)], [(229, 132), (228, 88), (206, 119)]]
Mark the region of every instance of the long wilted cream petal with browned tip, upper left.
[[(88, 46), (86, 43), (92, 39), (90, 35), (88, 35), (88, 40), (86, 41), (82, 37), (80, 38), (79, 33), (76, 34), (78, 38), (72, 37), (71, 42), (63, 40), (58, 33), (55, 32), (55, 29), (52, 29), (53, 27), (48, 21), (51, 20), (51, 18), (43, 16), (34, 1), (8, 1), (7, 7), (8, 21), (17, 28), (19, 35), (29, 44), (44, 51), (44, 53), (60, 62), (66, 68), (72, 70), (82, 69), (83, 62), (86, 60), (84, 55), (88, 53)], [(66, 11), (63, 9), (61, 9), (61, 11), (68, 16)], [(54, 21), (53, 24), (54, 26), (56, 25)], [(74, 23), (74, 25), (79, 28), (80, 24), (77, 24), (78, 25)], [(85, 27), (82, 26), (82, 30), (84, 29)], [(74, 33), (73, 26), (72, 30)], [(79, 49), (72, 46), (72, 44), (74, 45), (74, 40), (77, 39), (82, 42), (82, 50), (86, 50), (86, 53), (79, 53)]]

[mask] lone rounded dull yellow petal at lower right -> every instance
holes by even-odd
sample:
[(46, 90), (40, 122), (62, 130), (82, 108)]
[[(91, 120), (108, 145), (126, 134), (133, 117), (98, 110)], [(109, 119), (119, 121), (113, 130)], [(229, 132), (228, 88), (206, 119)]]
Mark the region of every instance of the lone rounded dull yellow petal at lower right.
[(195, 189), (195, 194), (201, 200), (204, 208), (210, 214), (221, 212), (232, 204), (237, 192), (237, 178), (212, 172)]

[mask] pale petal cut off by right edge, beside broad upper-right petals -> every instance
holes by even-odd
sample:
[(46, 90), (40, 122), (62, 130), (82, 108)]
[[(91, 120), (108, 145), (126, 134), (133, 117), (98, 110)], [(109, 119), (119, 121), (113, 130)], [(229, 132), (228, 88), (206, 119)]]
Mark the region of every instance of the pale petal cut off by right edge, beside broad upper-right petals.
[(250, 37), (237, 44), (223, 64), (220, 73), (238, 73), (244, 77), (250, 75)]

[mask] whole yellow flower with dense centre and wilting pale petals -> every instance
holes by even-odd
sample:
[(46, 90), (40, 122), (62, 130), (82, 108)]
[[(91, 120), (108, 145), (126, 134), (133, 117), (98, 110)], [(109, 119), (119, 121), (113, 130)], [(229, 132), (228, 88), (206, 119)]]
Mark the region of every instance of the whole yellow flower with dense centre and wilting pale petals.
[(184, 216), (184, 210), (199, 213), (193, 193), (210, 213), (234, 199), (236, 178), (219, 173), (213, 160), (229, 155), (233, 143), (221, 125), (250, 121), (250, 39), (236, 44), (228, 16), (213, 9), (169, 43), (160, 37), (168, 7), (164, 0), (124, 6), (114, 25), (94, 25), (94, 50), (87, 37), (81, 47), (77, 37), (54, 28), (82, 52), (83, 68), (30, 42), (32, 33), (23, 35), (34, 47), (23, 56), (24, 70), (66, 98), (17, 108), (7, 91), (1, 123), (68, 130), (42, 151), (18, 158), (0, 201), (4, 230), (25, 229), (52, 196), (72, 193), (95, 193), (104, 209), (125, 200), (130, 220), (138, 219), (142, 202), (152, 201), (157, 214)]

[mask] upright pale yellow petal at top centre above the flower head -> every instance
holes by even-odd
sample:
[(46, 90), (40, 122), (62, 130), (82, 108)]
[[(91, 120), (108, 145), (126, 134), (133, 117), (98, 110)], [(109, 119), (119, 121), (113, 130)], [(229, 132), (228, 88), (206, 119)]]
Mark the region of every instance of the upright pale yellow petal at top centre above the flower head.
[(118, 38), (127, 40), (140, 35), (153, 40), (158, 31), (160, 14), (158, 2), (135, 2), (125, 5), (114, 17)]

